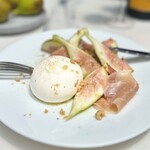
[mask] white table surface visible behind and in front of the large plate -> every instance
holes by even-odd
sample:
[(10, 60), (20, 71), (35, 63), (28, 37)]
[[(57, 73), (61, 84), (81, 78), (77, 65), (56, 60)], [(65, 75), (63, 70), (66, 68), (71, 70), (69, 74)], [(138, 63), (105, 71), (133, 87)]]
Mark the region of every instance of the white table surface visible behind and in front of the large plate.
[[(72, 17), (73, 21), (66, 20), (66, 12), (63, 11), (63, 8), (58, 5), (59, 0), (56, 0), (53, 4), (49, 0), (44, 1), (44, 7), (47, 13), (49, 21), (47, 26), (43, 25), (39, 28), (36, 28), (33, 31), (17, 34), (17, 35), (0, 35), (0, 50), (9, 46), (11, 43), (25, 38), (31, 34), (37, 34), (43, 32), (45, 27), (47, 29), (60, 29), (60, 28), (80, 28), (88, 27), (90, 29), (95, 29), (99, 31), (111, 32), (118, 34), (134, 40), (135, 42), (142, 45), (145, 49), (150, 49), (150, 20), (138, 20), (131, 18), (131, 25), (127, 28), (115, 28), (111, 25), (111, 20), (113, 17), (116, 17), (115, 12), (119, 4), (118, 0), (106, 0), (105, 2), (96, 1), (96, 0), (74, 0), (68, 1), (68, 10), (70, 11), (68, 17)], [(113, 2), (113, 3), (112, 3)], [(80, 3), (80, 5), (77, 5)], [(85, 5), (86, 4), (86, 5)], [(72, 5), (76, 6), (72, 10)], [(90, 6), (89, 9), (87, 7)], [(92, 9), (93, 8), (93, 9)], [(57, 11), (59, 10), (59, 11)], [(90, 11), (88, 11), (90, 10)], [(105, 10), (105, 11), (102, 11)], [(72, 15), (71, 11), (75, 11), (76, 15)], [(106, 13), (109, 13), (107, 14)], [(114, 14), (113, 14), (114, 13)], [(103, 15), (103, 17), (102, 17)], [(95, 148), (99, 150), (149, 150), (150, 148), (150, 131), (120, 144)], [(29, 140), (8, 127), (3, 123), (0, 123), (0, 149), (1, 150), (63, 150), (66, 148), (53, 147), (45, 144), (41, 144), (32, 140)]]

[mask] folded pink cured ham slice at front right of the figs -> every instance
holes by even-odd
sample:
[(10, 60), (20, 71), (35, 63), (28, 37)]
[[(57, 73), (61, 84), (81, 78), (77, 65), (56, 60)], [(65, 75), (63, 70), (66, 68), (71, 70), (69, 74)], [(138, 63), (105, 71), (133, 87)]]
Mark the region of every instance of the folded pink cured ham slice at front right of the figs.
[(134, 97), (138, 88), (138, 83), (130, 73), (112, 73), (107, 79), (104, 96), (95, 106), (108, 112), (119, 112)]

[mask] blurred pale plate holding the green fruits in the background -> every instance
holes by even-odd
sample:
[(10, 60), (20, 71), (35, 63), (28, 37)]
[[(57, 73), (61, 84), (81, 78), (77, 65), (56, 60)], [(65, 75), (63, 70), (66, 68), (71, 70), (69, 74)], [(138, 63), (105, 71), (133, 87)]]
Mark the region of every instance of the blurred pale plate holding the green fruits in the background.
[(34, 16), (12, 16), (10, 15), (8, 21), (0, 23), (0, 35), (10, 35), (27, 32), (40, 27), (46, 21), (46, 13)]

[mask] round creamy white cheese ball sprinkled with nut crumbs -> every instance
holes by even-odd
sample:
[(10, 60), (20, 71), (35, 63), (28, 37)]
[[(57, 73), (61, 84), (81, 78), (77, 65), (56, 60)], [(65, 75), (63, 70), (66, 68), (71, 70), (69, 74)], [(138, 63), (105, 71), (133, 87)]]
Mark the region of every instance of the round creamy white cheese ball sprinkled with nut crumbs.
[(60, 103), (71, 99), (83, 80), (80, 66), (63, 56), (50, 56), (38, 64), (32, 73), (30, 87), (44, 102)]

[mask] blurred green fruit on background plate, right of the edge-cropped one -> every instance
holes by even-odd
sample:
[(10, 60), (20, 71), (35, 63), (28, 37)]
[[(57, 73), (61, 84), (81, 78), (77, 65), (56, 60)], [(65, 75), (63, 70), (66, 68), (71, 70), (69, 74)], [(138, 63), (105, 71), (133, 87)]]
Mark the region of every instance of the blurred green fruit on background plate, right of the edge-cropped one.
[(43, 0), (20, 0), (14, 14), (16, 15), (36, 15), (42, 11)]

